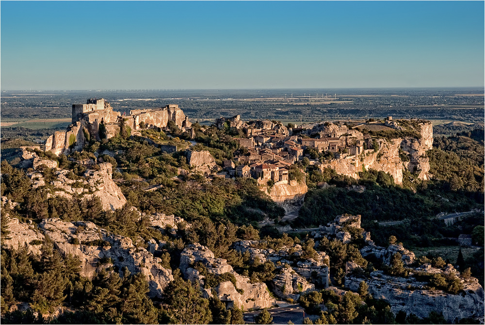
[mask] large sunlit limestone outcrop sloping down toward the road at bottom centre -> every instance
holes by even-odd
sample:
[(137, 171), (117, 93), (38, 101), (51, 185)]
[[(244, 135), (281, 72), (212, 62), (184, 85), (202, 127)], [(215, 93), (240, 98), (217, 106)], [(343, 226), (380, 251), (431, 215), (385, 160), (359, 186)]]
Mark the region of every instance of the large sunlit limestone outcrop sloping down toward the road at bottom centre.
[[(201, 262), (210, 274), (229, 273), (234, 276), (236, 285), (231, 281), (223, 281), (217, 287), (211, 289), (217, 293), (219, 298), (231, 301), (235, 307), (261, 309), (275, 304), (275, 299), (270, 296), (266, 284), (250, 283), (249, 277), (239, 275), (232, 269), (232, 266), (227, 264), (226, 260), (215, 259), (209, 248), (198, 243), (188, 245), (180, 255), (180, 271), (185, 278), (199, 282), (203, 287), (204, 276), (201, 276), (192, 267), (196, 262)], [(207, 289), (203, 293), (206, 296), (211, 295)]]

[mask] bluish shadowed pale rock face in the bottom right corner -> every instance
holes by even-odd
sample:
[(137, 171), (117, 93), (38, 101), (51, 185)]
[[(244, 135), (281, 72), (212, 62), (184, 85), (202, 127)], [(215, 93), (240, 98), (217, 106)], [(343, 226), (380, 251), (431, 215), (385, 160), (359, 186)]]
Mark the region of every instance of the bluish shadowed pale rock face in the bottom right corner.
[(368, 278), (347, 276), (345, 286), (357, 291), (361, 281), (368, 284), (374, 298), (386, 300), (394, 313), (403, 310), (424, 318), (436, 311), (442, 312), (448, 322), (484, 316), (484, 290), (475, 278), (462, 279), (464, 289), (458, 294), (429, 290), (426, 283), (415, 278), (387, 276), (381, 271), (372, 272)]

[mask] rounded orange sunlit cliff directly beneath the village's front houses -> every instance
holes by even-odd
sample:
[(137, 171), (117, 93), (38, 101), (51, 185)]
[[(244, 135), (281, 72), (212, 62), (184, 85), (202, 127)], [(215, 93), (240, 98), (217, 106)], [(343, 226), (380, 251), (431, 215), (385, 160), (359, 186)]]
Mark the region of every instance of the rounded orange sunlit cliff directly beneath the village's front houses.
[(269, 195), (286, 212), (294, 212), (298, 211), (303, 205), (303, 200), (307, 192), (307, 184), (295, 183), (291, 185), (287, 183), (276, 183), (271, 187)]

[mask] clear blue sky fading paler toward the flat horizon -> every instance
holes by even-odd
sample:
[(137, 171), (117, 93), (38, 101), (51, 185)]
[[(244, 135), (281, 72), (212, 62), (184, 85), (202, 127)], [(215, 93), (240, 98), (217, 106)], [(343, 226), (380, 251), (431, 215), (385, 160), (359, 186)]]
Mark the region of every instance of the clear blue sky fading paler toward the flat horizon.
[(2, 90), (484, 86), (484, 1), (1, 1)]

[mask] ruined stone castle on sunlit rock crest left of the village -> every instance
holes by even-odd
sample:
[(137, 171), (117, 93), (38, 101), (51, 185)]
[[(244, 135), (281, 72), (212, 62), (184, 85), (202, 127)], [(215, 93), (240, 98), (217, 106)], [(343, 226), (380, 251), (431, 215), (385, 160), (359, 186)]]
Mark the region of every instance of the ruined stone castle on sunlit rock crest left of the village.
[(56, 155), (81, 150), (91, 138), (101, 140), (116, 136), (124, 124), (129, 130), (142, 128), (166, 128), (173, 121), (178, 128), (192, 126), (178, 105), (170, 104), (162, 108), (132, 110), (129, 116), (113, 111), (110, 103), (103, 98), (88, 99), (86, 104), (72, 105), (71, 125), (65, 131), (57, 131), (46, 141), (46, 151)]

